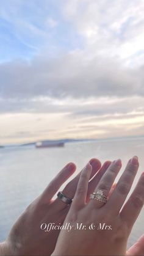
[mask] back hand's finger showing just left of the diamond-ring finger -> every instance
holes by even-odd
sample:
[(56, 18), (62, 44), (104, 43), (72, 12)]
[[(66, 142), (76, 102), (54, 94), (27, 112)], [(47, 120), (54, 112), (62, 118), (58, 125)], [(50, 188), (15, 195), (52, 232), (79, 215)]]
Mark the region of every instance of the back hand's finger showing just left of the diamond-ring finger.
[(107, 168), (110, 166), (111, 162), (106, 161), (101, 169), (95, 174), (95, 176), (89, 181), (88, 183), (88, 192), (87, 192), (87, 202), (90, 200), (90, 194), (95, 190), (96, 186), (98, 185), (101, 177), (103, 177), (104, 173), (106, 172)]

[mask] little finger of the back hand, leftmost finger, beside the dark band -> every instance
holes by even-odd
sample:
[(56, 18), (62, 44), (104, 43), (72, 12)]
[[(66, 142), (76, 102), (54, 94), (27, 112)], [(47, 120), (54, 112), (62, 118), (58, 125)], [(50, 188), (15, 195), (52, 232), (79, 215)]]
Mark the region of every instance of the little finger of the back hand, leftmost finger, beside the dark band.
[(49, 183), (45, 191), (41, 194), (41, 200), (43, 202), (49, 202), (52, 197), (56, 194), (57, 190), (62, 186), (62, 184), (70, 178), (70, 176), (75, 172), (76, 166), (74, 163), (68, 163), (59, 174)]

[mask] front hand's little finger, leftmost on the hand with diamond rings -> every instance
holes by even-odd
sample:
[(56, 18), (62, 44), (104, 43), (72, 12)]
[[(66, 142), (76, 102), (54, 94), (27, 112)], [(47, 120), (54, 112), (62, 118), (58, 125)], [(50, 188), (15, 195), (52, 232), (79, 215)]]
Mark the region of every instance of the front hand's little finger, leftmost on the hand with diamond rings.
[(79, 208), (84, 207), (85, 205), (88, 190), (88, 180), (90, 178), (91, 172), (92, 166), (90, 165), (90, 163), (88, 163), (82, 170), (79, 182), (77, 184), (76, 193), (73, 199), (73, 205)]

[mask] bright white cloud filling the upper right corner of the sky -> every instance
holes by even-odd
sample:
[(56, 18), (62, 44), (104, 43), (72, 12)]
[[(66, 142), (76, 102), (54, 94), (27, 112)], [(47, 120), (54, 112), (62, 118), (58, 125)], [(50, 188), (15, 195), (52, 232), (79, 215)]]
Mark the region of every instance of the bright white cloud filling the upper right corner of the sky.
[(62, 13), (85, 39), (85, 48), (95, 55), (119, 56), (135, 63), (134, 54), (143, 51), (144, 3), (109, 0), (65, 0)]

